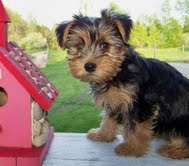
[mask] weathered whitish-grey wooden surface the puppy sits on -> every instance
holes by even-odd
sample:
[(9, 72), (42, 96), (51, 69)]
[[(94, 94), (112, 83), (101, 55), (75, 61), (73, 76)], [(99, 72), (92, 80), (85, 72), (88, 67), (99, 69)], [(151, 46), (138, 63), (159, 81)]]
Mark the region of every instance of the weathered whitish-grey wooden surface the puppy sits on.
[(122, 137), (112, 143), (88, 140), (86, 134), (55, 133), (43, 166), (189, 166), (189, 159), (172, 160), (156, 153), (165, 143), (154, 139), (149, 153), (141, 158), (122, 157), (114, 153), (114, 147)]

